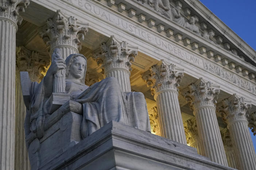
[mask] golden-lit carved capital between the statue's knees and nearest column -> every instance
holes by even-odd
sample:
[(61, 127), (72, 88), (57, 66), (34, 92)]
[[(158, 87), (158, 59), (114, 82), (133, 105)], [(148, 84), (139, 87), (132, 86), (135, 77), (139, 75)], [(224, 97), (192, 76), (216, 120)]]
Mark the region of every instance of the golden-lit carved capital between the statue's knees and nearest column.
[(150, 118), (151, 132), (153, 132), (155, 135), (160, 136), (161, 135), (160, 123), (159, 123), (158, 112), (156, 107), (152, 108), (151, 114), (149, 114), (149, 118)]

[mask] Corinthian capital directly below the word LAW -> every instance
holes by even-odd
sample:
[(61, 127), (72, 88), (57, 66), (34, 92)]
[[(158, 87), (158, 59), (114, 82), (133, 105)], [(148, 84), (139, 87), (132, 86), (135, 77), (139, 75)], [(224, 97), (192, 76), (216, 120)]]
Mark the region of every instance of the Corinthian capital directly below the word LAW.
[(212, 82), (204, 81), (199, 78), (195, 83), (192, 83), (188, 88), (184, 89), (183, 96), (188, 102), (190, 107), (195, 110), (202, 106), (216, 107), (218, 94), (220, 93), (219, 86), (214, 86)]

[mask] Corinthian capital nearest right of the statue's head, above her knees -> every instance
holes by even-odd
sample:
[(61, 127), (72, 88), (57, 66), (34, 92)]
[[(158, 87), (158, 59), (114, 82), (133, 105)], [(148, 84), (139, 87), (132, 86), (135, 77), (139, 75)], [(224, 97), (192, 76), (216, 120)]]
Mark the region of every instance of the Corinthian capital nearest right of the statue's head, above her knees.
[(137, 47), (129, 46), (126, 41), (119, 41), (110, 36), (108, 42), (102, 43), (100, 48), (94, 51), (93, 58), (105, 69), (105, 73), (114, 68), (131, 71), (131, 61), (137, 56), (137, 50)]

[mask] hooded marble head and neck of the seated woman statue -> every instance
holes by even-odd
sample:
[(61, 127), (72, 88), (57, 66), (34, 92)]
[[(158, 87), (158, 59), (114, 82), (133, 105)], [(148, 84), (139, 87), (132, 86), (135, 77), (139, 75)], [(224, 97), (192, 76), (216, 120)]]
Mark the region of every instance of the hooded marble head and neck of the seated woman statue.
[(66, 78), (77, 79), (85, 84), (87, 59), (83, 54), (70, 54), (66, 58)]

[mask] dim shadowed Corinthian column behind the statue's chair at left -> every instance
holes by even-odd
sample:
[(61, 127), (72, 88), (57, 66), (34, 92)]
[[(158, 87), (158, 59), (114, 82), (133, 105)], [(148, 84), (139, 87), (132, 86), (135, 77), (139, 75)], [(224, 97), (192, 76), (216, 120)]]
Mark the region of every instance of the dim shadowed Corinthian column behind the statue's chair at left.
[(45, 66), (50, 64), (50, 57), (41, 56), (23, 46), (16, 52), (16, 112), (15, 112), (15, 169), (30, 170), (28, 151), (25, 143), (24, 120), (26, 106), (23, 101), (20, 85), (20, 72), (27, 71), (32, 81), (39, 82), (46, 72)]

